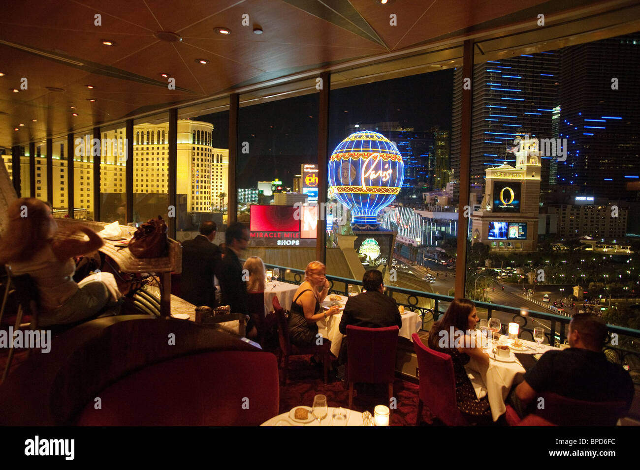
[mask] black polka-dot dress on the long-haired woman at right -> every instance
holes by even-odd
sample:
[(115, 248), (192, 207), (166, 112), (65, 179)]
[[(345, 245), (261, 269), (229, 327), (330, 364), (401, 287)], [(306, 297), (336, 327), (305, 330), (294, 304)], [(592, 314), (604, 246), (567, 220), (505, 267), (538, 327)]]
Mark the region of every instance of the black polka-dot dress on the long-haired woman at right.
[[(435, 335), (433, 333), (432, 330), (429, 338), (431, 338), (431, 336), (437, 337), (437, 333)], [(429, 341), (429, 347), (451, 356), (453, 373), (456, 378), (456, 404), (460, 412), (465, 415), (470, 423), (491, 423), (492, 417), (489, 398), (485, 395), (478, 400), (474, 386), (471, 384), (471, 380), (469, 380), (467, 371), (465, 370), (465, 364), (470, 360), (468, 354), (460, 352), (456, 348), (440, 348), (437, 345), (437, 341)]]

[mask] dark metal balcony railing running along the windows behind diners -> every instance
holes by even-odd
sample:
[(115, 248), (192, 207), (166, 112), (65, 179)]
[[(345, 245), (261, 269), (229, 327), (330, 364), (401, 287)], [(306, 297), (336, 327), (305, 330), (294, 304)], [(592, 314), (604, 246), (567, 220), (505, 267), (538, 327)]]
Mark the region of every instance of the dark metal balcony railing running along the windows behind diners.
[[(280, 280), (288, 283), (300, 284), (305, 279), (305, 272), (301, 269), (292, 269), (273, 264), (265, 263), (267, 269), (278, 268), (282, 273)], [(349, 295), (349, 285), (361, 288), (362, 281), (354, 279), (340, 278), (338, 276), (326, 276), (330, 282), (329, 292), (335, 294)], [(396, 286), (385, 286), (385, 294), (396, 301), (404, 308), (420, 313), (422, 317), (422, 329), (429, 329), (432, 322), (435, 322), (443, 315), (454, 300), (449, 295), (432, 294), (419, 290), (406, 289)], [(511, 315), (511, 322), (520, 325), (518, 336), (533, 341), (533, 328), (541, 326), (545, 329), (545, 336), (550, 345), (560, 345), (566, 342), (569, 333), (569, 323), (571, 317), (555, 315), (543, 311), (510, 307), (506, 305), (492, 304), (490, 302), (474, 301), (481, 316), (486, 310), (486, 317), (502, 314)], [(506, 331), (506, 325), (503, 331)], [(634, 381), (640, 379), (640, 331), (631, 328), (607, 325), (609, 340), (604, 352), (607, 358), (618, 364), (628, 364), (628, 370), (632, 373)]]

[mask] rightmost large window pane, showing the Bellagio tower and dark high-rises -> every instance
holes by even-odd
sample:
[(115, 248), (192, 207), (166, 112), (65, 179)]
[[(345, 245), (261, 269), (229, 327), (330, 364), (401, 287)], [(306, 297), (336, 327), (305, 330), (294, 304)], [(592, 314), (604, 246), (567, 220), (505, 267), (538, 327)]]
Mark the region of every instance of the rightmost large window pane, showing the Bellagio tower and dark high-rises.
[(638, 44), (476, 65), (467, 297), (640, 326)]

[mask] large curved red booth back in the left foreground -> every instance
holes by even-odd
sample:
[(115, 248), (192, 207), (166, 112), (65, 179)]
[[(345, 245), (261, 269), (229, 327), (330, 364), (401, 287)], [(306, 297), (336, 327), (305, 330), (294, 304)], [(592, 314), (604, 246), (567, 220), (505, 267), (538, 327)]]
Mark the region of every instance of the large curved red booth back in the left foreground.
[(81, 426), (257, 426), (278, 414), (278, 365), (268, 352), (181, 356), (131, 373), (97, 393)]

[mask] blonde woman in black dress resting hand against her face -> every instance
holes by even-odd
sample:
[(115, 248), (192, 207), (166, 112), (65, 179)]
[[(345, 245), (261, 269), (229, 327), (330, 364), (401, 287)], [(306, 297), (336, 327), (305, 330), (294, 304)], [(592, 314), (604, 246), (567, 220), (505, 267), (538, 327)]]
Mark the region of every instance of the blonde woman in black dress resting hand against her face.
[(339, 313), (337, 306), (324, 313), (320, 311), (320, 304), (324, 301), (330, 286), (325, 274), (326, 267), (323, 263), (308, 263), (305, 281), (296, 290), (289, 313), (289, 339), (296, 346), (313, 345), (318, 334), (317, 322)]

